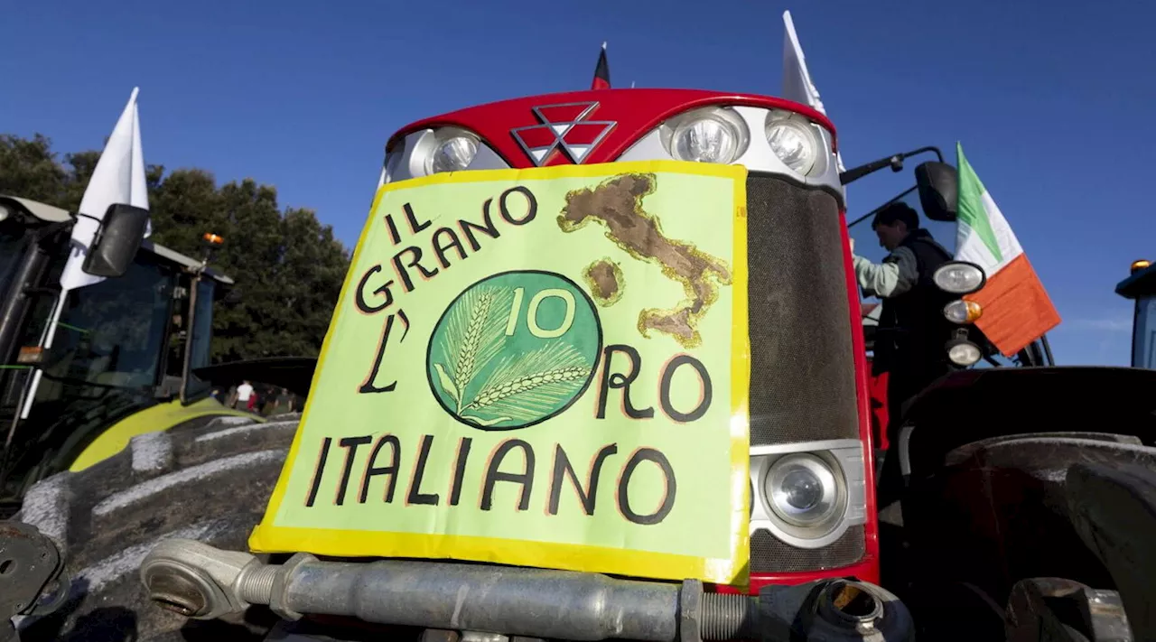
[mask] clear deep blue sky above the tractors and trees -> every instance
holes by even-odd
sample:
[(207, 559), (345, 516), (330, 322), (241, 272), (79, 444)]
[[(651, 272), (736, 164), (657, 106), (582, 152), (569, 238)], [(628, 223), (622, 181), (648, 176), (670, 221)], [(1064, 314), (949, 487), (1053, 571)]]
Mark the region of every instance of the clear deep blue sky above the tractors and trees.
[[(602, 40), (616, 87), (773, 95), (784, 9), (846, 164), (962, 141), (1064, 318), (1057, 359), (1127, 363), (1112, 288), (1156, 256), (1141, 2), (12, 2), (0, 131), (98, 148), (140, 86), (148, 162), (273, 184), (351, 243), (406, 123), (586, 88)], [(852, 185), (851, 215), (910, 183)]]

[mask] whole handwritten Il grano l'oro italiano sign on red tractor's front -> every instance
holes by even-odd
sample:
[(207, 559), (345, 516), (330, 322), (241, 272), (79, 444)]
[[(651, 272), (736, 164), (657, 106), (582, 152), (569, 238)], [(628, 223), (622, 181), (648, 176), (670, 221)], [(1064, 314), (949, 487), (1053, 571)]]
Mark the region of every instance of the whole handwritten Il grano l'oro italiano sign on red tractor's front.
[(746, 582), (746, 170), (383, 186), (259, 552)]

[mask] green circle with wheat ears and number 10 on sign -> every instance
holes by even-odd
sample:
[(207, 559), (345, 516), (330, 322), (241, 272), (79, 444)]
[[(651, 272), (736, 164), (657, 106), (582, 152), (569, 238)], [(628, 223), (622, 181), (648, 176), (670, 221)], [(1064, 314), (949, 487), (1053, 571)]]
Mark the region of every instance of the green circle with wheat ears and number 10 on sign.
[(466, 288), (442, 313), (425, 374), (458, 421), (516, 430), (570, 407), (601, 352), (594, 302), (577, 283), (553, 272), (503, 272)]

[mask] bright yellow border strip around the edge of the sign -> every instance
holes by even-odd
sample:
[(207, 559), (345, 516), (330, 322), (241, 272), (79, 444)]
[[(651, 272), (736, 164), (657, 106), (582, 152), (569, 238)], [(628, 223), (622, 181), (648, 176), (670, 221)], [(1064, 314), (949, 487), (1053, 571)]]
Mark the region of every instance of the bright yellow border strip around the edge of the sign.
[[(732, 361), (731, 361), (731, 493), (743, 497), (741, 515), (732, 515), (733, 519), (742, 521), (749, 512), (749, 457), (750, 426), (748, 394), (750, 389), (750, 340), (748, 318), (748, 266), (747, 266), (747, 168), (742, 165), (718, 165), (686, 161), (631, 161), (620, 163), (599, 163), (591, 165), (555, 165), (532, 169), (498, 169), (445, 172), (412, 178), (399, 183), (381, 185), (373, 197), (369, 215), (372, 216), (378, 202), (386, 192), (440, 185), (450, 183), (480, 183), (490, 180), (551, 180), (557, 178), (594, 178), (609, 177), (616, 174), (659, 172), (686, 174), (731, 178), (734, 185), (734, 270), (732, 286), (734, 288), (732, 311)], [(370, 230), (366, 220), (350, 259), (350, 270), (341, 286), (339, 302), (346, 301), (346, 294), (356, 280), (353, 266), (357, 265), (364, 246), (365, 235)], [(313, 372), (312, 388), (317, 388), (319, 377), (325, 370), (325, 357), (328, 354), (333, 329), (338, 326), (341, 305), (336, 307), (329, 329), (321, 342), (317, 369)], [(652, 553), (601, 546), (584, 546), (572, 544), (539, 543), (513, 539), (496, 539), (470, 536), (446, 536), (424, 533), (368, 532), (331, 529), (302, 529), (276, 526), (274, 519), (276, 509), (284, 499), (301, 445), (302, 426), (309, 421), (311, 400), (306, 400), (302, 411), (301, 422), (289, 455), (281, 468), (276, 486), (269, 503), (266, 506), (261, 522), (249, 538), (249, 546), (254, 553), (283, 552), (318, 552), (340, 548), (342, 556), (405, 556), (413, 558), (415, 551), (443, 548), (452, 546), (457, 559), (502, 564), (563, 568), (563, 569), (598, 569), (602, 573), (630, 575), (639, 577), (704, 577), (709, 582), (720, 584), (746, 585), (749, 564), (735, 568), (742, 552), (749, 549), (749, 529), (733, 524), (732, 532), (738, 539), (733, 541), (731, 559), (710, 560), (670, 553)], [(580, 559), (580, 562), (576, 562)]]

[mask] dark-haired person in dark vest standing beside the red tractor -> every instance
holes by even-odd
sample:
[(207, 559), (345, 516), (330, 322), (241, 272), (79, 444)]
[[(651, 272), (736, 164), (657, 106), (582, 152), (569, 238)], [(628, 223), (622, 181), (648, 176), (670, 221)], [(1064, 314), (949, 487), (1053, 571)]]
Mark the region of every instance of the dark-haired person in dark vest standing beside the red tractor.
[(919, 227), (919, 214), (898, 201), (880, 209), (872, 222), (879, 243), (890, 253), (881, 264), (854, 254), (855, 278), (867, 296), (883, 301), (880, 313), (875, 374), (888, 374), (888, 440), (896, 443), (903, 404), (929, 383), (947, 374), (950, 363), (943, 344), (951, 324), (943, 305), (951, 295), (932, 281), (932, 274), (951, 260), (951, 252)]

